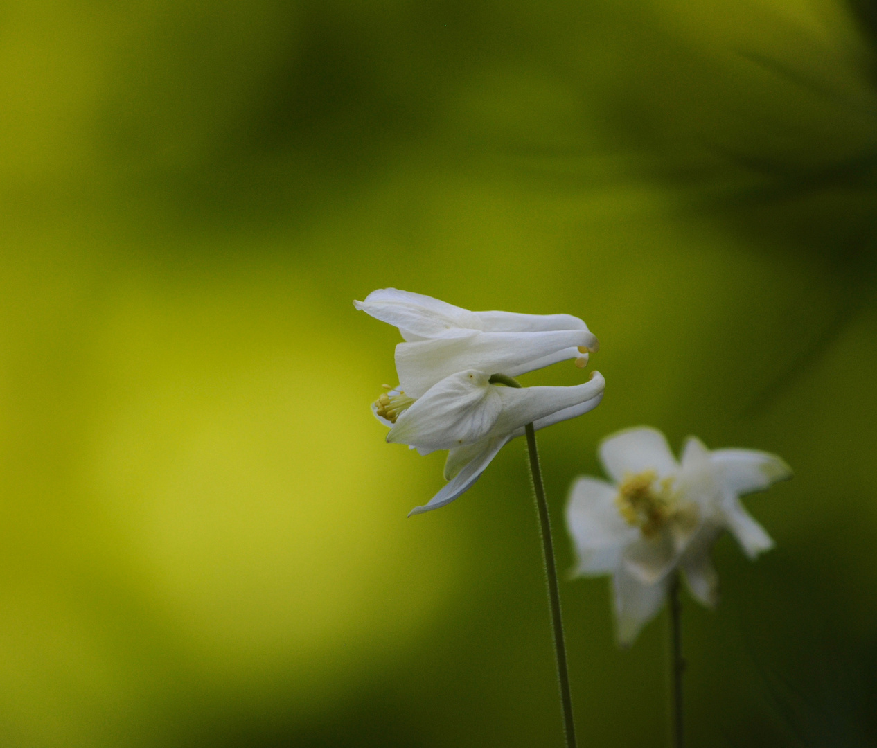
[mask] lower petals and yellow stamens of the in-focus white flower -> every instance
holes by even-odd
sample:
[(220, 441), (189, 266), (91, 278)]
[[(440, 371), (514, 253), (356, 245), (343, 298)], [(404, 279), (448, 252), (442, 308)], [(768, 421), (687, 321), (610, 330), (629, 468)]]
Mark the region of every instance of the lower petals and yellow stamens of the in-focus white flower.
[(383, 395), (374, 410), (391, 426), (387, 441), (410, 445), (421, 454), (449, 451), (449, 482), (410, 515), (439, 509), (471, 488), (496, 452), (524, 434), (526, 424), (542, 429), (594, 409), (604, 387), (598, 372), (574, 387), (510, 388), (491, 384), (489, 374), (469, 369), (450, 374), (417, 399), (397, 390)]

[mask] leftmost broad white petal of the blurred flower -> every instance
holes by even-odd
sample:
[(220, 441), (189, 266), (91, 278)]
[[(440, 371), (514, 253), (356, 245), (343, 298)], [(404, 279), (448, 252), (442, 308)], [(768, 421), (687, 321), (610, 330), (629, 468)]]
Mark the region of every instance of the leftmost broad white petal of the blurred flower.
[(638, 537), (639, 531), (618, 512), (617, 493), (610, 483), (588, 476), (577, 479), (570, 488), (567, 530), (578, 556), (574, 573), (613, 572), (624, 546)]

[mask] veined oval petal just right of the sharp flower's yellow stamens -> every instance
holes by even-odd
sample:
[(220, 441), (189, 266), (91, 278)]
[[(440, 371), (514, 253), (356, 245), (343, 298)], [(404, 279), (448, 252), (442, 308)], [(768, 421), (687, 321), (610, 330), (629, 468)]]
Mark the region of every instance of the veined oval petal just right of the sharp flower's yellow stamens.
[(428, 454), (486, 437), (503, 408), (499, 388), (488, 379), (470, 370), (439, 381), (396, 419), (387, 441), (415, 445)]

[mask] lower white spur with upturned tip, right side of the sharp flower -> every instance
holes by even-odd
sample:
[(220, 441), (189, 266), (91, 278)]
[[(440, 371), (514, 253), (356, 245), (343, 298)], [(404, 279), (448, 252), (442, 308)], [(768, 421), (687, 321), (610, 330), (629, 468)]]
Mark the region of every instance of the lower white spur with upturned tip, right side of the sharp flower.
[(559, 413), (567, 418), (580, 415), (597, 406), (605, 386), (606, 381), (595, 373), (590, 381), (571, 387), (498, 387), (503, 411), (496, 419), (496, 431), (517, 433), (526, 424), (547, 425), (546, 419)]

